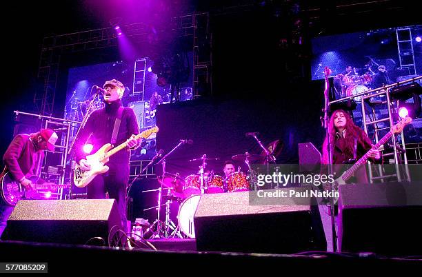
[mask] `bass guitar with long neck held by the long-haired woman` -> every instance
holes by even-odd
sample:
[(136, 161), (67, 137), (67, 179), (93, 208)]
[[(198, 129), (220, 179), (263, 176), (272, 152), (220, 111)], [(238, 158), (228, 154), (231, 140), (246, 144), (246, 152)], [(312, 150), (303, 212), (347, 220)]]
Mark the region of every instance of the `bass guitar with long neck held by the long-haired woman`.
[[(391, 127), (390, 132), (385, 134), (385, 136), (383, 136), (383, 138), (380, 139), (379, 142), (376, 143), (376, 145), (372, 146), (372, 148), (370, 150), (378, 149), (381, 145), (386, 143), (391, 138), (391, 136), (393, 134), (399, 134), (403, 130), (405, 125), (408, 125), (411, 122), (412, 122), (412, 119), (409, 116), (406, 116), (399, 123), (397, 123), (396, 125)], [(361, 165), (366, 163), (366, 161), (368, 161), (368, 156), (369, 156), (368, 153), (370, 152), (370, 150), (368, 152), (366, 152), (366, 154), (363, 155), (362, 158), (359, 158), (359, 160), (356, 161), (356, 163), (354, 163), (354, 165), (352, 165), (352, 167), (350, 167), (348, 170), (343, 172), (343, 174), (341, 174), (341, 176), (339, 178), (336, 178), (336, 180), (334, 180), (332, 187), (333, 187), (335, 192), (337, 192), (339, 190), (339, 185), (345, 185), (345, 182), (348, 181), (350, 178), (352, 178), (354, 172)], [(338, 200), (339, 200), (338, 197), (334, 197), (334, 203), (336, 203)]]

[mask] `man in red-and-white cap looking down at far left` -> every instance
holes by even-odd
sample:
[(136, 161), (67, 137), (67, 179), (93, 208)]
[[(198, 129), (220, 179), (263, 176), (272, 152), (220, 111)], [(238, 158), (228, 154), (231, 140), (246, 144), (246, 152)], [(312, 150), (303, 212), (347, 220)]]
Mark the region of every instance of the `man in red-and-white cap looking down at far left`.
[[(32, 184), (29, 177), (37, 175), (39, 165), (44, 156), (43, 151), (54, 151), (54, 144), (57, 138), (57, 134), (51, 129), (41, 129), (40, 132), (34, 134), (18, 134), (14, 137), (3, 156), (3, 162), (6, 165), (3, 174), (10, 172), (15, 181), (19, 182), (27, 191), (31, 191), (34, 184)], [(12, 210), (12, 205), (1, 201), (0, 236), (6, 227), (6, 221)]]

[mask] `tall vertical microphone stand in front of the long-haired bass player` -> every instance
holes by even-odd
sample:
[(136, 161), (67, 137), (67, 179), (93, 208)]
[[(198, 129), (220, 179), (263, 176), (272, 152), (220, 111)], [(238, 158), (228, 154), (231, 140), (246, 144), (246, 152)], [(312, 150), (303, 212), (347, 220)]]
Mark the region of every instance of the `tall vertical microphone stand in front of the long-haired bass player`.
[[(327, 151), (328, 151), (328, 174), (333, 174), (332, 168), (332, 141), (330, 139), (330, 132), (328, 130), (328, 125), (330, 119), (328, 118), (328, 112), (330, 112), (330, 98), (329, 98), (329, 91), (330, 91), (330, 82), (328, 81), (328, 75), (330, 75), (331, 70), (329, 68), (325, 68), (325, 90), (324, 90), (324, 98), (325, 98), (325, 105), (324, 105), (324, 119), (323, 119), (323, 128), (325, 129), (325, 137), (327, 138)], [(332, 189), (331, 184), (331, 189)], [(332, 251), (337, 252), (337, 234), (336, 234), (336, 223), (334, 218), (334, 198), (330, 197), (330, 212), (331, 212), (331, 232), (332, 232)]]

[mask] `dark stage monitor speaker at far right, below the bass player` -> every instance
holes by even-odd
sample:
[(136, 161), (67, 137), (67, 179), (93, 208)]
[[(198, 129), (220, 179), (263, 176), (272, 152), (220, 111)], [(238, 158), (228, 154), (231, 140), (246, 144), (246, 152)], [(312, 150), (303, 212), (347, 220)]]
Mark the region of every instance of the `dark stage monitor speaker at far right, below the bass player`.
[(339, 193), (341, 252), (422, 254), (420, 183), (343, 185)]

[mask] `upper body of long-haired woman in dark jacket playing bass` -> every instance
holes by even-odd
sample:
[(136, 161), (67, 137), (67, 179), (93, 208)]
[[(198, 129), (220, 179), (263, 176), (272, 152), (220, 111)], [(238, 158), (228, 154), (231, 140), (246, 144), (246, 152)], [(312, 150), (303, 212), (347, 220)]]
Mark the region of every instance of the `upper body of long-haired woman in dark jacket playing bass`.
[[(354, 125), (350, 115), (344, 110), (336, 110), (332, 113), (328, 126), (330, 141), (334, 147), (332, 153), (333, 170), (336, 178), (341, 175), (345, 163), (353, 164), (366, 152), (372, 162), (381, 162), (381, 153), (378, 150), (371, 150), (372, 144), (368, 136), (361, 128)], [(321, 163), (328, 164), (327, 138), (323, 143), (323, 156)], [(354, 176), (357, 183), (369, 183), (365, 167), (356, 170)]]

